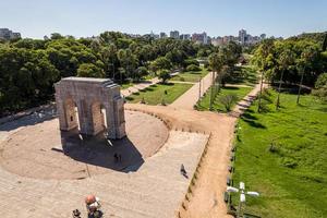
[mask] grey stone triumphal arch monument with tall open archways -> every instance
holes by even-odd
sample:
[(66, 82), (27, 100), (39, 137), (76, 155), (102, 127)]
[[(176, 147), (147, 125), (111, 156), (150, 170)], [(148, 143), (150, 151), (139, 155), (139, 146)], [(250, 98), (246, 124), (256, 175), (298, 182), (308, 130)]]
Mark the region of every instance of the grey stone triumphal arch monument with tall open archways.
[(85, 135), (106, 131), (112, 140), (125, 136), (124, 101), (111, 80), (65, 77), (55, 88), (60, 130), (78, 128)]

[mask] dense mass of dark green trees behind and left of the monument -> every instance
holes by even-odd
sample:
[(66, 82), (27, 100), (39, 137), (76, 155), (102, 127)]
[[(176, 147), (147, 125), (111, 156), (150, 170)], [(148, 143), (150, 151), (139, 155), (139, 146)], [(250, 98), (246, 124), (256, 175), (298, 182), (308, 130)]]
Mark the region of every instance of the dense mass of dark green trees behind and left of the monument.
[(53, 83), (61, 77), (138, 81), (149, 73), (186, 69), (213, 50), (190, 40), (134, 38), (117, 32), (94, 38), (52, 34), (44, 40), (0, 43), (0, 116), (52, 99)]

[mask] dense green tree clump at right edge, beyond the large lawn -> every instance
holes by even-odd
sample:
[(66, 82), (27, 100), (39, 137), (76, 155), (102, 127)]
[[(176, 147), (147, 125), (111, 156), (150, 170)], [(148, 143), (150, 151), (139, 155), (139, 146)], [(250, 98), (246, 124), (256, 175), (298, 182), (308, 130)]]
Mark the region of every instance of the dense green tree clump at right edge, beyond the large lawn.
[(266, 39), (254, 51), (252, 61), (272, 84), (282, 81), (314, 86), (318, 75), (327, 71), (327, 52), (322, 44), (323, 40), (304, 36), (286, 40)]

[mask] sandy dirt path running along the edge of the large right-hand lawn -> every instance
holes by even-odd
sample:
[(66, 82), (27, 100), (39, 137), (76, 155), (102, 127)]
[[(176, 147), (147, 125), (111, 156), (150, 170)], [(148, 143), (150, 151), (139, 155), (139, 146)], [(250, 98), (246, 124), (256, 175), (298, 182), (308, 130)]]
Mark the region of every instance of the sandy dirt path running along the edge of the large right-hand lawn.
[[(263, 87), (266, 87), (264, 84)], [(216, 125), (222, 125), (228, 130), (223, 136), (218, 136), (211, 132), (211, 140), (208, 146), (207, 156), (202, 164), (198, 184), (193, 190), (193, 197), (187, 203), (187, 210), (180, 209), (181, 217), (204, 218), (204, 217), (231, 217), (227, 215), (227, 207), (223, 202), (223, 192), (226, 191), (226, 180), (228, 177), (229, 155), (231, 142), (233, 140), (233, 130), (237, 119), (250, 107), (255, 96), (258, 94), (261, 84), (255, 85), (252, 92), (244, 97), (227, 117), (229, 121), (219, 119), (214, 122), (211, 129)], [(221, 113), (215, 113), (217, 118)], [(206, 117), (206, 113), (203, 113)], [(209, 126), (207, 126), (209, 128)]]

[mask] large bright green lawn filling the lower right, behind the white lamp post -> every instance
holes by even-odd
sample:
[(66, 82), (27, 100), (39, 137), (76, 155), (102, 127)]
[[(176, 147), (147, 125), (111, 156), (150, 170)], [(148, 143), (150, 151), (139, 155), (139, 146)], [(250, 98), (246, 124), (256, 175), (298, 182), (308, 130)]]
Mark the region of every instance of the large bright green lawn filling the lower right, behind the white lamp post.
[(271, 102), (268, 112), (257, 113), (255, 102), (240, 119), (234, 185), (243, 181), (261, 193), (246, 197), (245, 211), (252, 215), (327, 217), (327, 105), (304, 96), (296, 106), (290, 94), (280, 100), (278, 112)]

